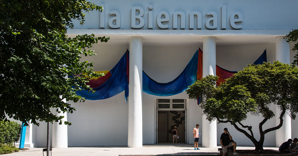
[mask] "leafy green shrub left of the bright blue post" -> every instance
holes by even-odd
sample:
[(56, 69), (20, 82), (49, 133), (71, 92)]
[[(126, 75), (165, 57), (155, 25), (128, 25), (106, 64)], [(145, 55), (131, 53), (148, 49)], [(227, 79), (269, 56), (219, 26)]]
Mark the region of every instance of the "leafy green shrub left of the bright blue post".
[(0, 121), (0, 144), (12, 146), (21, 136), (21, 124), (14, 121)]

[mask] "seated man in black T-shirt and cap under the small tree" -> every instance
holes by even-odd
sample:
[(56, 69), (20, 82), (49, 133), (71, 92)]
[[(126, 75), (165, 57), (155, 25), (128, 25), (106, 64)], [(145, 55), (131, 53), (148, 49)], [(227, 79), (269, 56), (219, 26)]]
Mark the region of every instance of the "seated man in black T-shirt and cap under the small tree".
[(224, 133), (221, 134), (221, 138), (219, 140), (221, 142), (221, 146), (223, 146), (223, 156), (226, 155), (226, 152), (227, 152), (228, 147), (231, 147), (231, 146), (233, 146), (233, 148), (234, 148), (233, 155), (237, 155), (238, 154), (236, 152), (236, 146), (237, 146), (237, 144), (234, 141), (232, 141), (232, 140), (233, 140), (233, 138), (230, 135), (228, 129), (227, 128), (224, 128)]

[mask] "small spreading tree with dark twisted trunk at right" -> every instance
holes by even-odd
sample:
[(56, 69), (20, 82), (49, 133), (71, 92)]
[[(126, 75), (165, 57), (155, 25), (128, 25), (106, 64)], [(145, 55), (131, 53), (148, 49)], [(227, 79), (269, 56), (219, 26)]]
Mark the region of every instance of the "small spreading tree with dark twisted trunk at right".
[[(283, 116), (296, 118), (298, 68), (294, 65), (264, 62), (244, 67), (218, 87), (215, 86), (217, 79), (217, 76), (208, 75), (196, 81), (186, 90), (189, 98), (197, 99), (202, 95), (200, 107), (209, 122), (217, 119), (218, 123), (230, 123), (253, 142), (255, 151), (263, 151), (265, 134), (279, 129), (283, 125)], [(274, 114), (270, 109), (273, 105), (280, 108), (280, 114)], [(263, 118), (257, 127), (259, 141), (254, 137), (252, 126), (241, 123), (249, 113)], [(275, 115), (279, 125), (263, 130), (265, 122)]]

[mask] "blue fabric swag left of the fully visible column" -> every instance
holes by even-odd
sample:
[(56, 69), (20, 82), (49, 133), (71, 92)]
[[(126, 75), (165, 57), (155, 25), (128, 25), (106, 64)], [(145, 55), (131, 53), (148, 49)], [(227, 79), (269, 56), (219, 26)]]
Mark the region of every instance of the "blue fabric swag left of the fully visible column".
[(77, 91), (76, 94), (85, 97), (88, 100), (102, 100), (113, 97), (125, 90), (125, 100), (128, 97), (128, 76), (127, 76), (127, 58), (129, 58), (129, 51), (127, 51), (113, 67), (111, 77), (105, 81), (101, 86), (93, 88), (96, 92), (88, 93), (86, 90)]

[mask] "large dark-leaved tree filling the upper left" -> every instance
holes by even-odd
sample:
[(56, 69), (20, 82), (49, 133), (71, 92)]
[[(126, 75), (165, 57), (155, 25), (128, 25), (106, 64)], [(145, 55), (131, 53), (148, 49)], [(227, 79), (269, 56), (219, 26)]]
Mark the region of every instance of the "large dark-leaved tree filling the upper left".
[(85, 101), (75, 92), (89, 89), (89, 78), (103, 74), (94, 73), (93, 62), (80, 58), (95, 55), (92, 45), (109, 38), (70, 38), (67, 28), (73, 28), (74, 19), (83, 24), (85, 12), (92, 10), (103, 7), (87, 0), (0, 1), (0, 119), (7, 114), (26, 125), (29, 120), (61, 124), (63, 116), (53, 115), (51, 108), (72, 113), (75, 108), (62, 99)]

